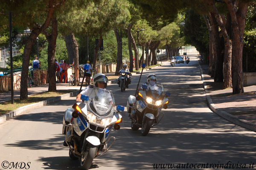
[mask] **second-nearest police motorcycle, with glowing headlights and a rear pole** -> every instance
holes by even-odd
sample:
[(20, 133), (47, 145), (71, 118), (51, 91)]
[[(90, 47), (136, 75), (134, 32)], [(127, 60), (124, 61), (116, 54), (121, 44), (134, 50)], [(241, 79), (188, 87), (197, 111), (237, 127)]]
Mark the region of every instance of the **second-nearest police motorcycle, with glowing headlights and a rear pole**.
[(141, 134), (146, 136), (150, 128), (162, 120), (164, 114), (160, 111), (162, 108), (167, 109), (169, 102), (167, 97), (170, 94), (164, 92), (163, 85), (160, 83), (156, 83), (153, 88), (147, 85), (142, 87), (143, 90), (139, 90), (138, 93), (136, 90), (136, 95), (129, 96), (127, 113), (131, 119), (131, 129), (136, 131), (141, 128)]

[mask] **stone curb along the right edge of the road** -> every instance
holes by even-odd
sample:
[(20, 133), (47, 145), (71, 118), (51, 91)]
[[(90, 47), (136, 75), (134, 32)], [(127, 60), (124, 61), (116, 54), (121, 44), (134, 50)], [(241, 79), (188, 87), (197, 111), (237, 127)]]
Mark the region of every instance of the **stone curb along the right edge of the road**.
[(200, 72), (201, 72), (201, 78), (204, 84), (204, 91), (206, 94), (206, 98), (209, 104), (209, 108), (212, 109), (213, 112), (215, 112), (217, 115), (221, 116), (222, 118), (226, 119), (227, 121), (232, 122), (233, 124), (236, 124), (240, 127), (244, 127), (248, 130), (252, 130), (254, 132), (256, 132), (256, 125), (245, 121), (245, 120), (240, 120), (239, 118), (237, 118), (236, 116), (233, 116), (231, 114), (229, 114), (228, 112), (225, 112), (224, 110), (218, 108), (213, 102), (212, 102), (212, 98), (209, 95), (209, 93), (207, 92), (207, 84), (204, 81), (204, 74), (203, 74), (203, 70), (201, 68), (200, 63), (198, 62), (199, 68), (200, 68)]

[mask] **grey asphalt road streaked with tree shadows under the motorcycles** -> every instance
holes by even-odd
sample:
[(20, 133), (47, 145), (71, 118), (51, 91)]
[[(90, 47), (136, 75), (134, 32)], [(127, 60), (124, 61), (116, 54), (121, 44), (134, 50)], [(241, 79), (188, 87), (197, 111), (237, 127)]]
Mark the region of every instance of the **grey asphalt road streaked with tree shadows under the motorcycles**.
[[(190, 169), (212, 164), (217, 169), (227, 163), (226, 169), (242, 169), (240, 164), (256, 164), (255, 133), (230, 124), (208, 108), (196, 58), (191, 57), (189, 64), (170, 67), (167, 63), (151, 69), (143, 74), (141, 83), (148, 73), (156, 74), (171, 93), (168, 109), (163, 109), (163, 120), (143, 137), (140, 130), (131, 130), (128, 115), (122, 112), (121, 129), (111, 133), (116, 142), (109, 153), (94, 159), (95, 170), (148, 170), (154, 169), (153, 164), (167, 164), (165, 169), (168, 164), (169, 169), (171, 164), (180, 164), (176, 169), (182, 169), (181, 164), (187, 169), (191, 164)], [(116, 105), (126, 106), (129, 95), (134, 95), (138, 78), (139, 75), (133, 76), (125, 92), (120, 92), (117, 84), (108, 86)], [(61, 135), (63, 113), (74, 100), (59, 101), (1, 124), (0, 170), (8, 165), (4, 161), (9, 162), (9, 167), (12, 162), (24, 162), (31, 170), (79, 169), (79, 161), (72, 161), (68, 147), (62, 145)]]

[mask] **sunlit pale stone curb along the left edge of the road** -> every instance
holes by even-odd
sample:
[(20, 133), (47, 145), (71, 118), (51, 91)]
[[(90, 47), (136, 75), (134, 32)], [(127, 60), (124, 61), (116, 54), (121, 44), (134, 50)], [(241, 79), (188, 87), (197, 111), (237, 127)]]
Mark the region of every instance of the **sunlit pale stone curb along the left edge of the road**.
[(19, 108), (15, 109), (11, 112), (8, 112), (4, 115), (1, 115), (0, 116), (0, 124), (4, 123), (5, 121), (7, 121), (11, 118), (14, 118), (17, 115), (20, 115), (20, 114), (24, 113), (24, 112), (28, 112), (30, 110), (43, 107), (47, 104), (52, 104), (56, 101), (66, 100), (70, 97), (74, 97), (74, 96), (78, 95), (78, 93), (79, 93), (79, 90), (74, 91), (74, 92), (70, 92), (70, 93), (67, 93), (67, 94), (64, 94), (64, 95), (60, 95), (60, 96), (57, 96), (57, 97), (54, 97), (54, 98), (49, 98), (49, 99), (44, 100), (44, 101), (39, 101), (38, 103), (29, 104), (29, 105), (26, 105), (26, 106), (23, 106), (23, 107), (19, 107)]

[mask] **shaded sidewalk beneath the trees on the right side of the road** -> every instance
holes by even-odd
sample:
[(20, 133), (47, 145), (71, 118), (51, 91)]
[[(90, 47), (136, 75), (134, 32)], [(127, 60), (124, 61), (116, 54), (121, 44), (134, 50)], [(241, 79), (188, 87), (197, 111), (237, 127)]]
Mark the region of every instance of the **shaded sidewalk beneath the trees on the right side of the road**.
[(208, 75), (207, 64), (199, 66), (209, 107), (228, 121), (256, 132), (256, 85), (244, 87), (243, 95), (233, 95), (232, 89), (223, 89), (224, 83), (214, 82)]

